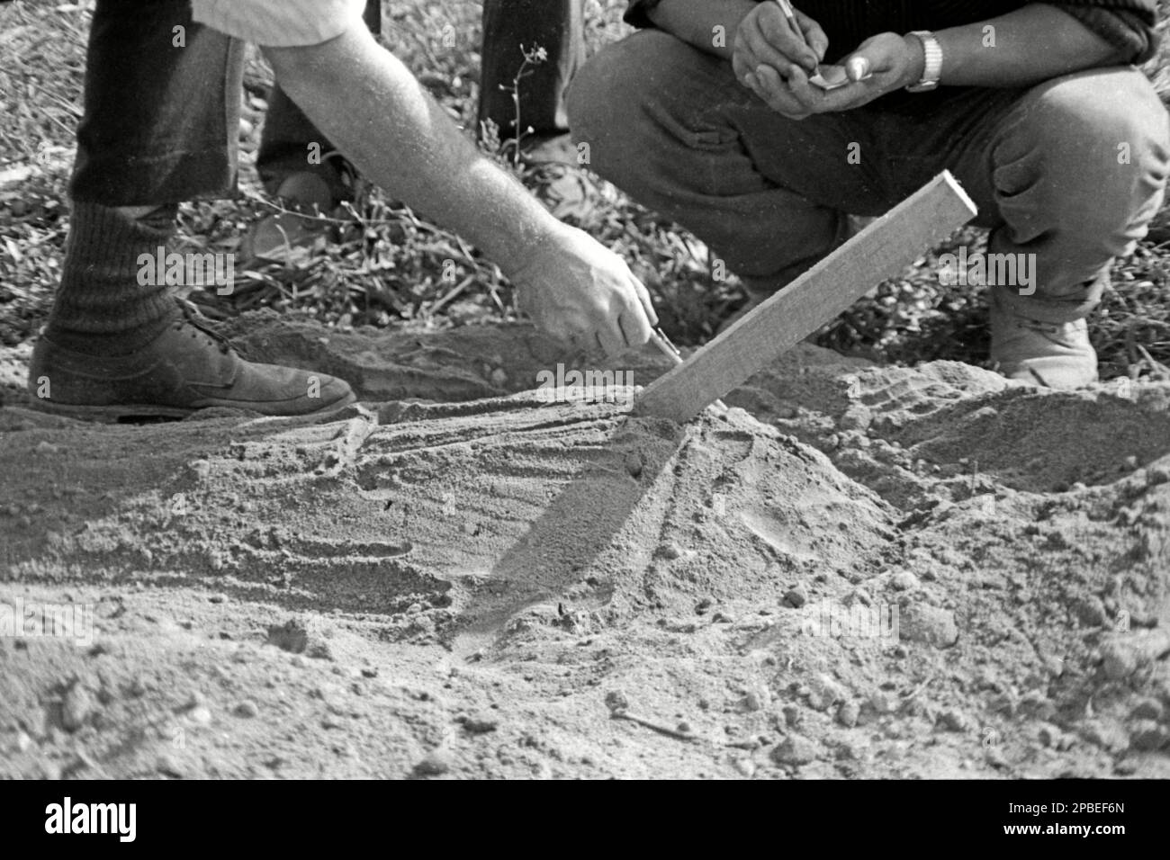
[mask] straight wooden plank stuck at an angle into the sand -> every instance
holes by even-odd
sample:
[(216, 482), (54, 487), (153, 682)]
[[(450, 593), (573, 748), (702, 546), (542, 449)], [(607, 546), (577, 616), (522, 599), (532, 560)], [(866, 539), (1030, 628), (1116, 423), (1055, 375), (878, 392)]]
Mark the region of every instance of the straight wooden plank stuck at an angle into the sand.
[(925, 248), (975, 218), (976, 205), (949, 171), (935, 177), (804, 275), (646, 387), (639, 414), (689, 421)]

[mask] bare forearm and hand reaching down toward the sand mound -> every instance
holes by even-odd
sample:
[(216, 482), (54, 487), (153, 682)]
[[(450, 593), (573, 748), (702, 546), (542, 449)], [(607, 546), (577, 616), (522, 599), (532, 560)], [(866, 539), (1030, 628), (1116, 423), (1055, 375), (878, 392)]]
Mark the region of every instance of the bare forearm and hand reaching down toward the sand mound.
[(654, 310), (626, 263), (477, 152), (364, 26), (264, 55), (285, 92), (366, 177), (495, 260), (542, 329), (610, 353), (649, 338)]

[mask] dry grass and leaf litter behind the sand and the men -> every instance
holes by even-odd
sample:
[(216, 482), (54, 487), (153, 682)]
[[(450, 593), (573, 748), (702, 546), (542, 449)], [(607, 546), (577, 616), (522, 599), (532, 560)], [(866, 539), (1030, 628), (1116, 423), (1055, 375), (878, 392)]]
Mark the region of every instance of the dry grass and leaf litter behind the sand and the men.
[[(1159, 0), (1170, 15), (1170, 0)], [(620, 37), (621, 0), (589, 0), (587, 37)], [(480, 4), (394, 0), (384, 4), (384, 41), (468, 131), (479, 97)], [(30, 337), (43, 321), (68, 226), (66, 186), (80, 115), (84, 6), (16, 0), (0, 5), (0, 342)], [(454, 47), (445, 44), (454, 28)], [(1170, 40), (1168, 40), (1170, 41)], [(1170, 44), (1148, 67), (1170, 99)], [(253, 55), (246, 75), (241, 193), (183, 207), (180, 241), (235, 249), (249, 225), (271, 211), (253, 170), (270, 71)], [(27, 176), (9, 183), (5, 172)], [(537, 173), (522, 172), (529, 185)], [(580, 226), (631, 261), (649, 287), (666, 330), (681, 343), (709, 337), (742, 301), (737, 282), (711, 280), (708, 252), (604, 183), (591, 184), (593, 213)], [(966, 234), (970, 236), (970, 234)], [(246, 273), (230, 298), (194, 297), (213, 316), (255, 307), (315, 317), (326, 325), (447, 326), (514, 316), (498, 269), (453, 234), (377, 188), (364, 188), (330, 241), (294, 264)], [(954, 358), (978, 364), (986, 349), (982, 293), (943, 288), (923, 259), (906, 278), (881, 284), (818, 335), (820, 343), (894, 362)], [(452, 269), (450, 261), (454, 264)], [(1094, 322), (1106, 376), (1143, 376), (1170, 364), (1170, 247), (1144, 245), (1115, 267), (1117, 290)], [(454, 280), (450, 275), (454, 274)], [(239, 275), (239, 273), (238, 273)], [(445, 277), (447, 275), (447, 277)], [(1142, 352), (1144, 348), (1145, 352)]]

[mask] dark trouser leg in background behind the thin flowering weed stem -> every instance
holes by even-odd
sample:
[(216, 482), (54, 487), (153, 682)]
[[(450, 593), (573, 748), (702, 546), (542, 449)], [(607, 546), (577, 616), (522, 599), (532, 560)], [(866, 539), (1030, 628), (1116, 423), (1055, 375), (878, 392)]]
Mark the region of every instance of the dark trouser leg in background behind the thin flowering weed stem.
[(521, 82), (521, 124), (536, 137), (565, 133), (565, 89), (585, 59), (584, 29), (584, 0), (484, 0), (480, 125), (491, 119), (501, 139), (516, 136), (511, 92), (500, 88), (512, 85), (521, 46), (539, 46), (549, 59)]

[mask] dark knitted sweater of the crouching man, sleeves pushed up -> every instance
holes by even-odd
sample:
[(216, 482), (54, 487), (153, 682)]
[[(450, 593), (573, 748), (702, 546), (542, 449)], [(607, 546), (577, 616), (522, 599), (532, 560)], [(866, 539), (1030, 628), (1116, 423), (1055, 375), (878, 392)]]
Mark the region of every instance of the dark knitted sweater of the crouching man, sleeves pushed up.
[[(626, 20), (635, 27), (652, 26), (646, 11), (660, 1), (632, 0)], [(1155, 4), (1156, 0), (1058, 0), (1049, 6), (1067, 12), (1124, 50), (1130, 62), (1144, 62), (1157, 47)], [(832, 61), (878, 33), (941, 30), (996, 18), (1028, 4), (1020, 0), (796, 0), (794, 5), (825, 28), (831, 46), (827, 59)]]

